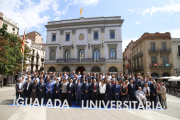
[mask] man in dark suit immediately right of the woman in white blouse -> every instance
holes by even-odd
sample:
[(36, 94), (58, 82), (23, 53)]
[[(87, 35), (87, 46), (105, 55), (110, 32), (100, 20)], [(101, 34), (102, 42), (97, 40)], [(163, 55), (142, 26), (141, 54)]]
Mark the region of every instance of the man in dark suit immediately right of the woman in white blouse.
[(109, 80), (109, 83), (106, 85), (106, 96), (107, 100), (111, 102), (114, 94), (114, 85), (111, 83), (111, 80)]

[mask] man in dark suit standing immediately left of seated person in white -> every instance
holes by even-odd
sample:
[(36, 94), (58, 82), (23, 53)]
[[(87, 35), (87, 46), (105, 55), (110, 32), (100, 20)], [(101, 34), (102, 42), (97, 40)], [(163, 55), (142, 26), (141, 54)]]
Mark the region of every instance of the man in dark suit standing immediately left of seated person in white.
[(129, 94), (129, 100), (131, 102), (136, 100), (136, 90), (137, 90), (137, 85), (133, 84), (133, 80), (130, 80), (130, 84), (128, 85), (128, 94)]

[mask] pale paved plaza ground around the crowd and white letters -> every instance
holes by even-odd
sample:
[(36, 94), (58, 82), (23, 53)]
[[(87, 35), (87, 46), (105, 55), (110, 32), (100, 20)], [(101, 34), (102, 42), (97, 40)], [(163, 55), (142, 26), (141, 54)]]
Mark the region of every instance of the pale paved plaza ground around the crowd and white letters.
[(180, 98), (167, 95), (167, 110), (82, 110), (10, 106), (15, 88), (0, 88), (0, 120), (178, 120)]

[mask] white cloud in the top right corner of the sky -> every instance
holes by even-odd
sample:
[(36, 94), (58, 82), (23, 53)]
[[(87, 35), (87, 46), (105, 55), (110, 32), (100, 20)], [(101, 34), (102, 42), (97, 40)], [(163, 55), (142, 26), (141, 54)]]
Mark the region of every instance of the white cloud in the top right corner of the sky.
[(165, 4), (163, 7), (151, 7), (147, 8), (142, 12), (142, 15), (146, 13), (150, 13), (150, 15), (153, 15), (155, 12), (168, 12), (169, 14), (178, 13), (180, 12), (180, 3), (178, 1), (170, 0), (169, 4)]

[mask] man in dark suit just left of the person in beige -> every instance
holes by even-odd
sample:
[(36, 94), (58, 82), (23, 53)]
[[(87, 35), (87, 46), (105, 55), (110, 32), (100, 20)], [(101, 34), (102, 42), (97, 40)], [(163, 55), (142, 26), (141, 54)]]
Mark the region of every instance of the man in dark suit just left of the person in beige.
[(156, 96), (157, 96), (157, 86), (156, 86), (156, 81), (153, 80), (153, 84), (150, 86), (151, 90), (151, 103), (154, 101), (154, 107), (156, 106)]

